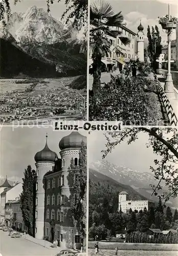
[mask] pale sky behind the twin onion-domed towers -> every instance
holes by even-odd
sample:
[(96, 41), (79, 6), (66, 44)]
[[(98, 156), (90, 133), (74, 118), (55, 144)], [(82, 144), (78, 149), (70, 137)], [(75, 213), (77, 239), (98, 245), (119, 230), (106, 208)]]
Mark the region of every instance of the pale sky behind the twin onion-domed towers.
[[(34, 156), (44, 148), (46, 133), (50, 150), (56, 152), (59, 157), (59, 141), (71, 132), (53, 132), (52, 127), (18, 127), (13, 132), (12, 127), (3, 127), (0, 133), (1, 177), (5, 178), (7, 175), (9, 180), (20, 181), (29, 164), (36, 169)], [(80, 133), (86, 136), (85, 132)]]

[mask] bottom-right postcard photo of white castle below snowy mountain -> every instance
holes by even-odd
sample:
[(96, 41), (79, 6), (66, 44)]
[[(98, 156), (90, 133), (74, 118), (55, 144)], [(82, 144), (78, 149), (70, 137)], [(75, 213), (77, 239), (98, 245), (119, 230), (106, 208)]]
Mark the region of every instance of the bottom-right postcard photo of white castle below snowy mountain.
[(88, 135), (88, 255), (177, 255), (178, 131)]

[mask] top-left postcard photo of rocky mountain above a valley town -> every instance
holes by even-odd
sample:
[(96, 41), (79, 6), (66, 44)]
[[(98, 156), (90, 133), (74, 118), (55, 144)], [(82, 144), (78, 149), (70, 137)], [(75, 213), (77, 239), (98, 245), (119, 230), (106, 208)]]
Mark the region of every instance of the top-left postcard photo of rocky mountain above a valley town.
[(2, 1), (1, 123), (86, 118), (87, 3), (65, 2)]

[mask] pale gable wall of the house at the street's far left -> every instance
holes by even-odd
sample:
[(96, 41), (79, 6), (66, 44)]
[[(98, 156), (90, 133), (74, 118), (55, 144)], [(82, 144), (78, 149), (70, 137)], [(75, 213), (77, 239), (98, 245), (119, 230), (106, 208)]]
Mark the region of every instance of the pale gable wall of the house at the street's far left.
[(6, 187), (1, 193), (1, 221), (5, 220), (5, 206), (8, 201), (14, 200), (22, 192), (22, 184), (15, 183), (13, 186)]

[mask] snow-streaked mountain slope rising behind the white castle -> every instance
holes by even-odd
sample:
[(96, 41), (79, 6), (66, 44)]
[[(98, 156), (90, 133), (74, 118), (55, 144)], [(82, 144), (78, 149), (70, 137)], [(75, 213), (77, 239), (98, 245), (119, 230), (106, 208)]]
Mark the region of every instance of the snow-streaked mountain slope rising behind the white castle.
[[(117, 191), (117, 194), (123, 190), (127, 191), (129, 199), (150, 200), (155, 201), (156, 204), (158, 203), (159, 198), (154, 195), (151, 196), (153, 190), (150, 184), (157, 184), (156, 182), (158, 182), (154, 180), (152, 173), (140, 172), (126, 166), (118, 166), (106, 160), (92, 162), (89, 167), (90, 180), (96, 187), (99, 182), (100, 184), (105, 184), (106, 187), (110, 186), (115, 193)], [(163, 191), (165, 191), (165, 188), (160, 190), (159, 194)], [(91, 192), (91, 194), (93, 193)], [(170, 198), (167, 205), (173, 208), (178, 207), (177, 198)]]

